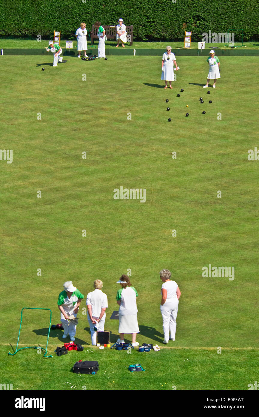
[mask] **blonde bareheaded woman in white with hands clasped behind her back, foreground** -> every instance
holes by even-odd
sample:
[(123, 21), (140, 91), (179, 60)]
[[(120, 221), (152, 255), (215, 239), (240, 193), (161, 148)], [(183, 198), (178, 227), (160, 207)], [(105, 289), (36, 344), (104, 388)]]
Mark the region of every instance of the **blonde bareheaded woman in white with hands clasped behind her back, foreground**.
[(94, 330), (94, 327), (97, 327), (99, 332), (104, 331), (106, 317), (105, 310), (108, 307), (108, 300), (107, 295), (101, 290), (103, 288), (103, 283), (100, 279), (94, 281), (93, 288), (95, 290), (87, 294), (86, 305), (92, 345), (96, 345), (96, 331)]

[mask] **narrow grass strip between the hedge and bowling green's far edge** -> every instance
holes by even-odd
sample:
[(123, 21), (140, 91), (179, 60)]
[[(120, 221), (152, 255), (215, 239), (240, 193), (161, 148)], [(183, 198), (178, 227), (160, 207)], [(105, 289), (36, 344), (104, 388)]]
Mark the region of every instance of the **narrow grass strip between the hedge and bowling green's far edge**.
[[(74, 48), (77, 47), (77, 41), (76, 39), (72, 39)], [(61, 48), (65, 48), (65, 40), (60, 41)], [(88, 40), (87, 42), (88, 48), (91, 47), (91, 42)], [(6, 49), (12, 49), (12, 48), (31, 48), (31, 49), (43, 49), (46, 48), (46, 45), (48, 46), (48, 40), (42, 40), (41, 42), (38, 42), (37, 39), (6, 39), (6, 38), (0, 38), (0, 48), (6, 48)], [(98, 46), (98, 40), (95, 40), (94, 46)], [(184, 42), (138, 42), (134, 41), (132, 45), (130, 46), (129, 43), (126, 43), (126, 48), (130, 49), (166, 49), (167, 45), (171, 45), (172, 49), (174, 48), (183, 48)], [(236, 42), (235, 46), (241, 46), (241, 42)], [(245, 46), (244, 46), (245, 45)], [(116, 41), (106, 41), (105, 47), (106, 48), (115, 48)], [(231, 49), (231, 47), (225, 47), (224, 43), (206, 43), (206, 49), (211, 48), (220, 48), (220, 49)], [(121, 45), (120, 45), (121, 48)], [(258, 49), (259, 48), (259, 42), (252, 41), (252, 42), (243, 42), (243, 47), (246, 49)], [(191, 49), (198, 49), (198, 42), (191, 42)]]

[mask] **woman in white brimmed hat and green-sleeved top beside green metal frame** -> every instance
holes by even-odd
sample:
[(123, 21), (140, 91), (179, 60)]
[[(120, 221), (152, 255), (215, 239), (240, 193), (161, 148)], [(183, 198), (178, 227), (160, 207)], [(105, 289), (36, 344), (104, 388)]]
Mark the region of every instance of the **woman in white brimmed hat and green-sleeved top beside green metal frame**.
[[(58, 296), (58, 308), (61, 313), (60, 320), (64, 327), (63, 339), (66, 339), (69, 335), (70, 340), (73, 342), (75, 340), (76, 324), (73, 320), (68, 321), (68, 319), (71, 315), (74, 317), (77, 316), (80, 303), (84, 296), (73, 286), (72, 281), (66, 281), (63, 287), (64, 291), (60, 292)], [(78, 322), (78, 319), (76, 322)]]

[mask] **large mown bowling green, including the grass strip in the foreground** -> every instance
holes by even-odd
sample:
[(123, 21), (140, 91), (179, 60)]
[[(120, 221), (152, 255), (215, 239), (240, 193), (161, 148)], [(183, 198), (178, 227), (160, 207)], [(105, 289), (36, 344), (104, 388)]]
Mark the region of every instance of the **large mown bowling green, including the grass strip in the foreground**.
[[(5, 300), (0, 353), (13, 389), (57, 389), (50, 367), (60, 369), (62, 384), (82, 389), (78, 380), (85, 377), (69, 373), (79, 355), (99, 361), (95, 381), (103, 389), (118, 389), (121, 383), (130, 389), (168, 389), (163, 382), (169, 389), (247, 389), (258, 380), (259, 162), (247, 159), (247, 151), (258, 147), (258, 60), (222, 57), (221, 79), (207, 95), (202, 88), (206, 57), (177, 58), (174, 88), (164, 90), (161, 57), (111, 56), (93, 62), (68, 57), (53, 68), (52, 54), (0, 56), (5, 80), (1, 149), (13, 149), (13, 163), (0, 161)], [(146, 188), (146, 202), (114, 200), (113, 190), (120, 186)], [(202, 267), (209, 264), (234, 267), (235, 279), (203, 278)], [(163, 268), (171, 270), (182, 292), (176, 340), (169, 348), (162, 344), (159, 309)], [(85, 352), (93, 350), (89, 355), (55, 357), (55, 347), (63, 344), (60, 331), (51, 333), (53, 358), (29, 349), (8, 356), (23, 307), (50, 308), (52, 322), (60, 322), (56, 303), (69, 279), (85, 297), (96, 278), (103, 281), (105, 328), (114, 343), (118, 321), (109, 317), (118, 309), (116, 281), (128, 269), (139, 294), (137, 340), (157, 343), (160, 352), (127, 355), (92, 348), (81, 310), (76, 341)], [(44, 347), (47, 327), (46, 312), (26, 311), (21, 346)], [(119, 354), (127, 355), (124, 362)], [(193, 366), (188, 368), (187, 359)], [(126, 365), (138, 362), (146, 372), (138, 375), (138, 385), (131, 385), (137, 375)], [(168, 377), (166, 367), (178, 370), (177, 377)], [(104, 369), (114, 383), (107, 382)]]

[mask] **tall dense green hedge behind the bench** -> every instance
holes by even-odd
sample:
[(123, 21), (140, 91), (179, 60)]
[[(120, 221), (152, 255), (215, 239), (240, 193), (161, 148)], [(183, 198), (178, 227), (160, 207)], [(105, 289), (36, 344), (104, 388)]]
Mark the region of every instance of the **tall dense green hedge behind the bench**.
[(0, 36), (74, 39), (81, 22), (133, 25), (134, 40), (192, 40), (202, 33), (243, 28), (244, 40), (259, 38), (258, 0), (0, 0)]

